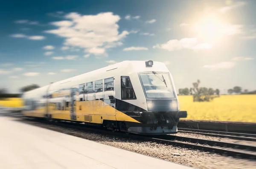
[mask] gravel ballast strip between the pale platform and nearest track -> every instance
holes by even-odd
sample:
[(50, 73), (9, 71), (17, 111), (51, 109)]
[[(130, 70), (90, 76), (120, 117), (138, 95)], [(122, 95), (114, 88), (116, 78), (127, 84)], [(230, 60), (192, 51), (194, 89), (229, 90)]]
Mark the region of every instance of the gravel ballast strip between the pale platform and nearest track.
[(214, 153), (201, 152), (199, 150), (186, 149), (154, 142), (131, 140), (129, 138), (117, 137), (113, 135), (96, 134), (92, 132), (85, 132), (77, 129), (70, 129), (51, 124), (37, 123), (31, 120), (19, 119), (17, 121), (29, 123), (34, 126), (43, 127), (46, 129), (51, 129), (57, 132), (62, 132), (68, 135), (93, 140), (98, 143), (103, 143), (109, 146), (114, 146), (132, 152), (137, 152), (143, 155), (169, 160), (186, 166), (192, 166), (198, 169), (254, 169), (256, 166), (255, 160), (221, 156)]

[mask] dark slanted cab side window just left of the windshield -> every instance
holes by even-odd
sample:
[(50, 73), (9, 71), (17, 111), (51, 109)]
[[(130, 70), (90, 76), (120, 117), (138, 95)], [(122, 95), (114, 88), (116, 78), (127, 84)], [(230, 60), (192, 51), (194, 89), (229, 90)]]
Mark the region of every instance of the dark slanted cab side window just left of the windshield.
[(137, 99), (129, 76), (121, 76), (122, 100)]

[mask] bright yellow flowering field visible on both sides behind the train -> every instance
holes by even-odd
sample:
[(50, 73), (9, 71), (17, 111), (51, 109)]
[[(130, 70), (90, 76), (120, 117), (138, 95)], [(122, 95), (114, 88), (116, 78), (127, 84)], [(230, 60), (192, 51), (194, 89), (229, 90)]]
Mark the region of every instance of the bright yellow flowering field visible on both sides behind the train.
[[(240, 121), (256, 123), (256, 95), (221, 95), (211, 102), (193, 102), (192, 96), (178, 96), (186, 120)], [(21, 107), (20, 98), (0, 100), (0, 106)]]

